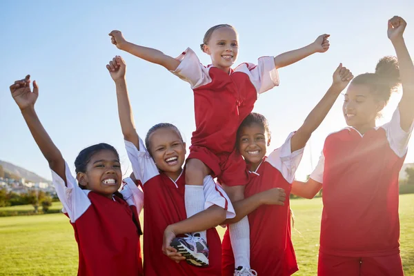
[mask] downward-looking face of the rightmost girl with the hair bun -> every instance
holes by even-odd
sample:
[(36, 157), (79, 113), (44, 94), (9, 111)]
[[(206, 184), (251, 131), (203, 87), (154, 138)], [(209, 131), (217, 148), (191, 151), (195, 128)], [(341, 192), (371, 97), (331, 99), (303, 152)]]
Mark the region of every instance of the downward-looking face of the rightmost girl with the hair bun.
[(344, 95), (342, 112), (346, 124), (364, 134), (375, 127), (375, 119), (384, 106), (385, 102), (375, 99), (368, 86), (351, 83)]

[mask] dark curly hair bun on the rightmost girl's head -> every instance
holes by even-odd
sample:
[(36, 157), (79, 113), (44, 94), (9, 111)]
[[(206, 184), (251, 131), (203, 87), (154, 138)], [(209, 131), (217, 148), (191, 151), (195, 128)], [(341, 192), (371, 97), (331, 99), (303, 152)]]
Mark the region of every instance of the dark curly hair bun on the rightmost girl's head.
[(389, 88), (396, 88), (400, 84), (400, 68), (396, 57), (383, 57), (375, 67), (375, 74), (379, 77), (380, 83)]

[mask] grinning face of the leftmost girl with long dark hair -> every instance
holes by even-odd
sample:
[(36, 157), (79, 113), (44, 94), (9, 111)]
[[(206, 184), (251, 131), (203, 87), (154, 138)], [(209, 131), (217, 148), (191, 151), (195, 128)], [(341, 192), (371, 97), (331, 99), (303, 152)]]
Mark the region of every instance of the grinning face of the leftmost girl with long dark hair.
[(108, 198), (112, 198), (122, 182), (121, 164), (112, 150), (99, 150), (90, 157), (86, 172), (78, 172), (79, 184)]

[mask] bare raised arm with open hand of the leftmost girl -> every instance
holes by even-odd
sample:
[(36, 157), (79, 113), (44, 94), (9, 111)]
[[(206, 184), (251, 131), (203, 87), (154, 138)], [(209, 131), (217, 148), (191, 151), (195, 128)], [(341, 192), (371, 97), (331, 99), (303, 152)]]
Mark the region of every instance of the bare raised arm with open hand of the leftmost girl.
[(39, 96), (39, 87), (36, 81), (33, 81), (32, 92), (30, 89), (30, 75), (27, 75), (25, 79), (14, 81), (14, 84), (10, 86), (10, 92), (12, 92), (12, 97), (21, 110), (21, 115), (23, 115), (32, 133), (34, 141), (36, 141), (43, 156), (48, 160), (50, 169), (55, 171), (66, 183), (65, 161), (59, 149), (50, 139), (48, 132), (43, 128), (36, 111), (34, 111), (34, 103), (36, 103)]

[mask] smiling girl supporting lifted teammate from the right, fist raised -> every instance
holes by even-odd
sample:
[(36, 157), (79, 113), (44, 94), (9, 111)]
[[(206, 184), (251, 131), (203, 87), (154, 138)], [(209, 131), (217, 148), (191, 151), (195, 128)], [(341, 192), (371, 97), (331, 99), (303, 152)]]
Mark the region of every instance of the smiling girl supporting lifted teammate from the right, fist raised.
[[(250, 264), (257, 275), (288, 276), (297, 268), (295, 251), (290, 239), (289, 195), (295, 171), (302, 159), (304, 146), (339, 94), (353, 78), (342, 64), (333, 73), (333, 83), (324, 97), (306, 117), (304, 124), (290, 133), (284, 144), (266, 157), (270, 145), (270, 130), (263, 115), (251, 113), (244, 119), (237, 132), (237, 145), (250, 172), (246, 185), (246, 199), (234, 204), (237, 216), (234, 222), (248, 215), (250, 224)], [(264, 205), (263, 200), (272, 196), (286, 196), (284, 204)], [(228, 231), (223, 240), (222, 275), (233, 275), (235, 259)]]

